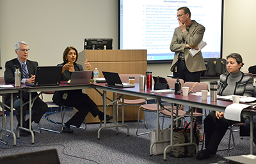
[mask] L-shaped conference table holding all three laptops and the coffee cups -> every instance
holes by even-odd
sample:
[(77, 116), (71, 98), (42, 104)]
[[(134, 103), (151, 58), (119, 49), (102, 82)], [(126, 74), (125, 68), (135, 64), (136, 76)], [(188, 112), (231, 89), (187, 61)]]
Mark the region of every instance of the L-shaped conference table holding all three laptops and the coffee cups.
[[(134, 87), (129, 88), (118, 88), (118, 87), (108, 87), (106, 86), (106, 83), (91, 83), (91, 84), (76, 84), (76, 85), (70, 85), (65, 84), (64, 82), (61, 82), (60, 86), (45, 86), (45, 87), (29, 87), (26, 85), (22, 85), (21, 91), (29, 92), (29, 129), (21, 128), (23, 130), (30, 131), (31, 138), (32, 138), (32, 144), (34, 143), (34, 135), (33, 131), (31, 130), (31, 107), (32, 107), (32, 99), (31, 99), (31, 93), (32, 92), (38, 92), (38, 91), (63, 91), (63, 90), (72, 90), (72, 89), (95, 89), (99, 92), (101, 90), (103, 92), (102, 94), (102, 100), (104, 105), (104, 126), (100, 126), (98, 130), (98, 139), (100, 138), (100, 131), (103, 128), (113, 128), (116, 127), (116, 131), (118, 131), (118, 127), (124, 126), (127, 128), (127, 135), (129, 135), (129, 126), (127, 126), (124, 123), (124, 103), (122, 104), (122, 123), (119, 124), (118, 121), (114, 125), (108, 126), (106, 124), (106, 107), (107, 107), (107, 92), (111, 93), (118, 93), (124, 95), (130, 95), (130, 96), (138, 96), (141, 98), (148, 98), (148, 99), (154, 99), (157, 101), (157, 125), (156, 125), (156, 134), (159, 132), (159, 105), (161, 105), (161, 101), (167, 101), (172, 104), (171, 112), (173, 112), (173, 104), (180, 104), (180, 105), (186, 105), (189, 107), (196, 107), (196, 108), (204, 108), (207, 110), (214, 110), (214, 111), (220, 111), (225, 112), (225, 108), (232, 104), (232, 101), (224, 101), (224, 100), (217, 100), (216, 102), (212, 102), (210, 100), (210, 97), (207, 98), (207, 100), (202, 100), (201, 96), (195, 96), (189, 94), (188, 96), (183, 96), (182, 94), (157, 94), (157, 93), (151, 93), (149, 89), (146, 90), (140, 90), (139, 84), (134, 84)], [(114, 100), (115, 101), (115, 100)], [(191, 117), (193, 112), (190, 112)], [(256, 110), (254, 109), (245, 109), (243, 110), (242, 114), (244, 116), (251, 117), (251, 133), (250, 133), (250, 139), (251, 139), (251, 147), (250, 147), (250, 153), (253, 154), (253, 119), (252, 117), (256, 115)], [(171, 117), (171, 121), (173, 122), (173, 116)], [(171, 123), (171, 129), (173, 129), (173, 124)], [(166, 160), (166, 150), (169, 147), (173, 147), (172, 144), (172, 130), (171, 130), (171, 138), (170, 138), (170, 145), (164, 149), (164, 160)], [(192, 137), (192, 133), (191, 133)], [(18, 133), (19, 138), (19, 133)], [(150, 145), (150, 155), (152, 155), (152, 147), (154, 144), (161, 143), (159, 141), (159, 136), (156, 137), (156, 142), (152, 143)], [(189, 144), (193, 144), (192, 141)], [(174, 145), (175, 146), (175, 145)], [(198, 150), (198, 147), (196, 147), (196, 150)]]

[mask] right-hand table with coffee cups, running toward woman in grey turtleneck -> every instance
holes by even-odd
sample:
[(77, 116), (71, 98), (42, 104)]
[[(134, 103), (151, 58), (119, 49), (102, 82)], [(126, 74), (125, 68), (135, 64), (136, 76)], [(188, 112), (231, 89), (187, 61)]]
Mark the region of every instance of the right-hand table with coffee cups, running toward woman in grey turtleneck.
[[(151, 98), (157, 101), (157, 125), (156, 125), (156, 142), (153, 142), (150, 145), (150, 155), (152, 155), (152, 147), (154, 144), (161, 143), (163, 141), (159, 141), (159, 105), (161, 104), (161, 101), (164, 102), (170, 102), (172, 104), (171, 112), (173, 113), (173, 104), (180, 104), (180, 105), (186, 105), (188, 107), (195, 107), (195, 108), (204, 108), (207, 110), (214, 110), (214, 111), (220, 111), (220, 112), (225, 112), (225, 108), (228, 105), (232, 104), (232, 101), (225, 101), (225, 100), (217, 100), (216, 102), (212, 102), (211, 98), (208, 96), (207, 100), (202, 100), (201, 96), (195, 96), (189, 94), (188, 96), (183, 96), (182, 94), (174, 94), (174, 93), (169, 93), (169, 94), (157, 94), (157, 93), (151, 93), (149, 89), (146, 90), (140, 90), (139, 89), (139, 84), (134, 84), (135, 87), (129, 87), (129, 88), (116, 88), (116, 87), (108, 87), (104, 83), (99, 83), (99, 84), (93, 84), (96, 89), (100, 89), (104, 91), (104, 113), (106, 114), (106, 91), (113, 92), (113, 93), (119, 93), (119, 94), (126, 94), (130, 96), (138, 96), (141, 98)], [(122, 104), (122, 112), (124, 114), (124, 104)], [(191, 118), (193, 117), (193, 112), (189, 111), (191, 114)], [(253, 119), (252, 117), (256, 115), (256, 110), (253, 108), (246, 108), (242, 111), (241, 113), (243, 116), (248, 116), (250, 117), (250, 154), (253, 154)], [(173, 115), (171, 115), (171, 129), (173, 130)], [(122, 125), (124, 126), (124, 119), (122, 119)], [(108, 126), (106, 126), (108, 128)], [(129, 130), (129, 129), (128, 129)], [(166, 160), (166, 151), (170, 147), (173, 147), (172, 144), (172, 133), (173, 131), (171, 130), (171, 138), (170, 138), (170, 145), (164, 149), (164, 160)], [(100, 130), (99, 130), (100, 131)], [(129, 132), (128, 132), (129, 133)], [(191, 133), (191, 138), (192, 133)], [(98, 138), (99, 138), (99, 133), (98, 133)], [(191, 139), (192, 142), (192, 139)], [(195, 145), (193, 143), (188, 143)], [(188, 145), (185, 144), (185, 145)], [(175, 145), (177, 146), (177, 145)], [(198, 151), (198, 147), (196, 147), (196, 150)]]

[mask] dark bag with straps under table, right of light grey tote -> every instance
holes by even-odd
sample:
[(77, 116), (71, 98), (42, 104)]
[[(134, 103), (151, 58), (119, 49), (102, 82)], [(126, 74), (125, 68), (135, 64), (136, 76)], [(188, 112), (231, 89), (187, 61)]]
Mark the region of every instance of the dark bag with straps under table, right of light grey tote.
[[(175, 128), (173, 130), (173, 145), (190, 142), (190, 129), (188, 129), (188, 126), (189, 124), (187, 124), (186, 128)], [(193, 126), (193, 142), (197, 145), (199, 144), (199, 131), (196, 129), (196, 123)], [(170, 156), (178, 158), (189, 157), (193, 156), (195, 151), (195, 145), (177, 146), (171, 148)]]

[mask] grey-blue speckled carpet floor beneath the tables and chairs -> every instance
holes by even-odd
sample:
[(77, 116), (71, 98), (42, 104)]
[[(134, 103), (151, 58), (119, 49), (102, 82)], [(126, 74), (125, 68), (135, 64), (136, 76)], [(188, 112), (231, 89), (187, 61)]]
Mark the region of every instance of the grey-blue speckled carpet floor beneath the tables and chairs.
[[(72, 117), (71, 110), (66, 111), (65, 121)], [(8, 128), (10, 128), (10, 116), (7, 116)], [(49, 116), (51, 120), (60, 122), (60, 113)], [(14, 120), (16, 128), (17, 120)], [(60, 130), (61, 126), (50, 123), (42, 117), (41, 126), (53, 130)], [(1, 121), (0, 121), (1, 124)], [(108, 123), (111, 124), (111, 123)], [(130, 128), (130, 135), (127, 136), (127, 129), (118, 128), (119, 133), (116, 134), (115, 128), (103, 129), (100, 132), (100, 139), (97, 139), (97, 131), (99, 124), (87, 124), (86, 130), (72, 128), (74, 133), (52, 133), (42, 131), (36, 133), (35, 144), (31, 144), (31, 137), (20, 137), (17, 139), (17, 145), (13, 146), (13, 137), (8, 137), (8, 145), (0, 144), (0, 157), (10, 156), (13, 154), (31, 153), (47, 149), (56, 149), (61, 163), (218, 163), (227, 156), (227, 151), (218, 151), (211, 158), (198, 161), (193, 157), (189, 158), (173, 158), (167, 155), (167, 160), (163, 160), (163, 154), (150, 156), (150, 134), (136, 136), (137, 122), (126, 122)], [(84, 125), (83, 125), (84, 126)], [(164, 128), (170, 126), (170, 120), (165, 119)], [(37, 130), (37, 124), (33, 124), (33, 130)], [(156, 129), (156, 114), (148, 114), (148, 130)], [(140, 121), (140, 132), (147, 131)], [(202, 130), (201, 130), (202, 131)], [(15, 130), (16, 132), (16, 130)], [(227, 147), (228, 133), (221, 141), (220, 149)], [(231, 156), (250, 154), (250, 138), (244, 137), (240, 139), (239, 133), (234, 133), (236, 140), (235, 149), (230, 151)], [(201, 145), (199, 146), (199, 149)], [(253, 151), (256, 151), (254, 147)], [(255, 154), (255, 153), (254, 153)]]

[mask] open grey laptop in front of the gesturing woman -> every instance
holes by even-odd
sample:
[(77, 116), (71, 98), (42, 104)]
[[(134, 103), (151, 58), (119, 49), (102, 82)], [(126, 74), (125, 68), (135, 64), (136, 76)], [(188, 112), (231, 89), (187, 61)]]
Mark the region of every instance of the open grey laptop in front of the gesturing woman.
[(91, 82), (93, 71), (73, 71), (67, 84), (88, 84)]

